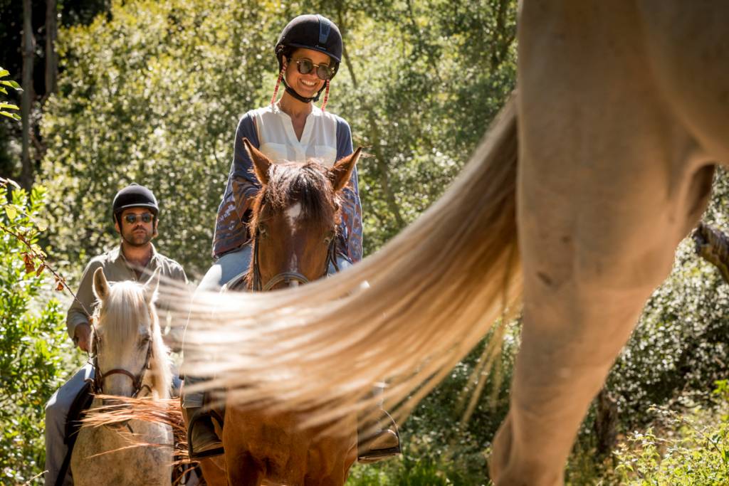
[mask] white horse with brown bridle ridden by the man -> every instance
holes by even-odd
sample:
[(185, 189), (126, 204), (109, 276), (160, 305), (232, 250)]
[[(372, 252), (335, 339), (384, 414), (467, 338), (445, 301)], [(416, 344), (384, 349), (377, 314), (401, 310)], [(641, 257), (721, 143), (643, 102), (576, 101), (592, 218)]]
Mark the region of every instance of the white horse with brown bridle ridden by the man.
[[(169, 397), (171, 367), (154, 305), (159, 278), (157, 270), (145, 285), (120, 281), (109, 286), (104, 270), (95, 271), (93, 291), (100, 302), (93, 319), (95, 393), (105, 397), (95, 398), (90, 412), (113, 409), (109, 395)], [(172, 446), (171, 428), (161, 423), (84, 426), (71, 455), (74, 484), (169, 485)]]

